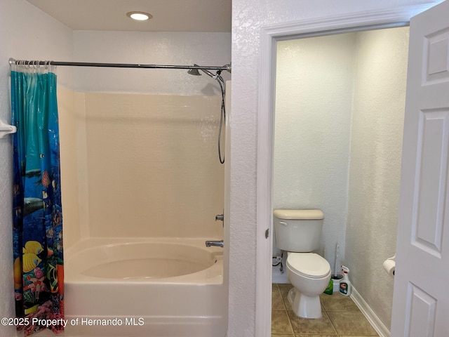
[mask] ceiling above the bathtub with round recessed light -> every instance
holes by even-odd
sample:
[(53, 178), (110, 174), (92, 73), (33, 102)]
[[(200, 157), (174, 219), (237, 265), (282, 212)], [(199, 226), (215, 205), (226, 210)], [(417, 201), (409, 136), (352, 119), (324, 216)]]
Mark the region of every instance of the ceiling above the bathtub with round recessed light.
[[(231, 32), (232, 0), (27, 0), (74, 30)], [(126, 16), (144, 11), (151, 20)]]

